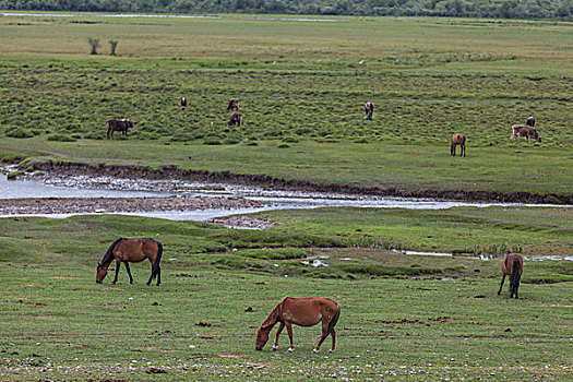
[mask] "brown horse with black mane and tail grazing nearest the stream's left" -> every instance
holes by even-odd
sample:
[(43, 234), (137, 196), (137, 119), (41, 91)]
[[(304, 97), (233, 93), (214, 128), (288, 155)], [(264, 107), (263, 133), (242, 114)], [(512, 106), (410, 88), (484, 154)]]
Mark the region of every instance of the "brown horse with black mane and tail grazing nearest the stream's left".
[(139, 263), (145, 259), (152, 263), (152, 274), (147, 280), (147, 285), (152, 279), (157, 277), (157, 286), (162, 284), (162, 268), (159, 262), (162, 261), (163, 246), (159, 241), (150, 238), (123, 239), (119, 238), (111, 246), (109, 246), (104, 259), (97, 264), (96, 283), (102, 284), (107, 275), (107, 268), (114, 259), (116, 260), (116, 277), (111, 284), (118, 282), (119, 266), (121, 263), (126, 264), (126, 270), (129, 275), (129, 283), (133, 284), (133, 277), (129, 268), (129, 262)]

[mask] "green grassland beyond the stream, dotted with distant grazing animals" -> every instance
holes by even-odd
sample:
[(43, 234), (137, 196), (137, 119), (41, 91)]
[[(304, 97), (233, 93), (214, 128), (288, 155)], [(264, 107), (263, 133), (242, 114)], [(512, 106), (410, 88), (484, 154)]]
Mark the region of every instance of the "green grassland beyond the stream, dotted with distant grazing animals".
[[(0, 33), (3, 154), (571, 194), (571, 23), (4, 16)], [(530, 115), (542, 143), (512, 144)], [(127, 141), (105, 141), (110, 118), (134, 121)], [(447, 156), (454, 132), (465, 159)]]

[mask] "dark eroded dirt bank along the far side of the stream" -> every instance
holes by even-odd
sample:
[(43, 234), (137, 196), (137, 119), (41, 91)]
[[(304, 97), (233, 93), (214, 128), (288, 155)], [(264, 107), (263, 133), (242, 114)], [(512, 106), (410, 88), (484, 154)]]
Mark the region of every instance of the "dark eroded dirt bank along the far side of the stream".
[(162, 166), (152, 168), (148, 166), (123, 166), (123, 165), (88, 165), (84, 163), (69, 162), (34, 162), (32, 167), (36, 171), (47, 171), (59, 175), (87, 175), (108, 176), (128, 179), (177, 179), (196, 182), (220, 182), (244, 186), (259, 186), (263, 188), (337, 192), (368, 194), (397, 198), (426, 198), (445, 199), (457, 201), (489, 201), (504, 203), (530, 203), (530, 204), (573, 204), (573, 194), (535, 194), (529, 192), (491, 192), (491, 191), (464, 191), (464, 190), (429, 190), (429, 189), (404, 189), (394, 187), (374, 187), (361, 184), (319, 183), (305, 180), (274, 178), (266, 175), (243, 175), (229, 171), (210, 172), (204, 170), (181, 169), (178, 166)]

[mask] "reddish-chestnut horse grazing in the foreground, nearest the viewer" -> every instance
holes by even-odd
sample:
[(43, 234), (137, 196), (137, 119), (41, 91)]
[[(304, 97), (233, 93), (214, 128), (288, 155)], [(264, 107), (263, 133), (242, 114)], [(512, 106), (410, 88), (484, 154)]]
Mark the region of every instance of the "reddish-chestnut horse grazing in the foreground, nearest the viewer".
[(329, 353), (333, 353), (336, 347), (336, 332), (334, 326), (338, 322), (341, 315), (341, 306), (322, 297), (308, 297), (308, 298), (293, 298), (285, 297), (278, 302), (278, 305), (271, 311), (266, 320), (256, 330), (256, 341), (254, 348), (262, 350), (266, 342), (268, 341), (268, 334), (273, 326), (278, 322), (280, 326), (276, 332), (276, 339), (273, 346), (273, 350), (278, 348), (278, 336), (286, 326), (288, 332), (288, 338), (290, 339), (290, 347), (288, 351), (295, 349), (293, 343), (293, 324), (300, 326), (313, 326), (322, 321), (322, 335), (320, 336), (317, 347), (312, 353), (318, 353), (320, 346), (326, 339), (329, 334), (332, 335), (332, 348)]

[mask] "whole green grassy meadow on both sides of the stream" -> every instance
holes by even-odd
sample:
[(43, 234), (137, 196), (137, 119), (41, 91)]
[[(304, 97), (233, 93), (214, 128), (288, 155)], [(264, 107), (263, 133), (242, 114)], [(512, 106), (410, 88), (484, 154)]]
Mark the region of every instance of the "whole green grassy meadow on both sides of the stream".
[[(0, 162), (571, 195), (572, 23), (335, 20), (0, 16)], [(244, 126), (227, 124), (229, 97)], [(511, 143), (511, 124), (532, 115), (542, 142)], [(105, 139), (111, 118), (134, 121), (129, 136)], [(454, 132), (468, 136), (465, 158), (450, 156)], [(0, 218), (0, 379), (572, 379), (571, 262), (527, 260), (520, 299), (508, 280), (496, 294), (508, 250), (573, 253), (571, 208), (255, 217), (279, 225)], [(110, 275), (95, 283), (120, 236), (164, 243), (160, 287), (144, 285), (143, 263), (131, 266), (134, 285), (124, 270), (116, 286)], [(329, 266), (302, 262), (314, 259)], [(293, 354), (286, 333), (279, 351), (254, 350), (258, 325), (287, 295), (341, 303), (333, 355), (330, 338), (310, 354), (318, 327), (294, 329)]]

